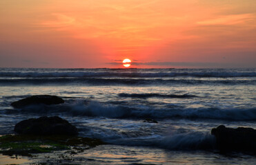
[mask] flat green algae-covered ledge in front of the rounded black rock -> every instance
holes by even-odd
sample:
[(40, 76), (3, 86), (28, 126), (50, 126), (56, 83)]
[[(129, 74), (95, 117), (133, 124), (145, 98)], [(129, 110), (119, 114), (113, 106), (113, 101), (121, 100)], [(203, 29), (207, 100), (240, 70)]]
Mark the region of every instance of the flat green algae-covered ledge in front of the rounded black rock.
[(0, 153), (3, 155), (32, 156), (32, 153), (50, 153), (59, 150), (84, 150), (104, 144), (89, 137), (63, 135), (3, 135), (0, 137)]

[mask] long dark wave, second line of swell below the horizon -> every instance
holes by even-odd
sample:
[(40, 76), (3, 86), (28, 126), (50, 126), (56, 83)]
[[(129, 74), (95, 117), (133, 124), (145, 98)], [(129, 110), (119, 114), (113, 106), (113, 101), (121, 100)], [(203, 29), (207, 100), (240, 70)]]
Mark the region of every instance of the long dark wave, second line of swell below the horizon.
[(249, 80), (197, 80), (163, 78), (5, 78), (0, 85), (255, 85)]

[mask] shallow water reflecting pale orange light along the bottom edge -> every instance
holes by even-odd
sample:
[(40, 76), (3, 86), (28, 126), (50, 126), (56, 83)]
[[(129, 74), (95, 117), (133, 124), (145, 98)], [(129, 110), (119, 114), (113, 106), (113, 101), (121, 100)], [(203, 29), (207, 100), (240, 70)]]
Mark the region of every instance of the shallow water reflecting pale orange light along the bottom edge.
[(76, 155), (57, 151), (40, 154), (33, 158), (1, 157), (6, 163), (16, 164), (255, 164), (255, 156), (244, 154), (220, 155), (207, 151), (170, 151), (161, 148), (141, 146), (104, 145), (91, 148)]

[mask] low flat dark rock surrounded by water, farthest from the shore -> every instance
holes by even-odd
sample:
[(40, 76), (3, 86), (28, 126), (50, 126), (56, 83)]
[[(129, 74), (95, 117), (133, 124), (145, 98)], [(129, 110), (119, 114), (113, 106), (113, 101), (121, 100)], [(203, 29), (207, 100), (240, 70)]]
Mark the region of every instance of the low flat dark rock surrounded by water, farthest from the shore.
[(30, 104), (62, 104), (64, 100), (59, 98), (58, 96), (50, 96), (50, 95), (36, 95), (30, 96), (28, 98), (23, 98), (19, 101), (12, 102), (12, 107), (14, 108), (23, 108)]

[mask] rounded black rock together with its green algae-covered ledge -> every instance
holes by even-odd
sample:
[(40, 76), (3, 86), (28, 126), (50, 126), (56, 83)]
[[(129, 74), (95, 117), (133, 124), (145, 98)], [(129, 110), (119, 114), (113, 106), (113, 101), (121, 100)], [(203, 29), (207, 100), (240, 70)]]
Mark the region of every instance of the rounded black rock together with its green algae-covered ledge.
[(67, 150), (79, 153), (106, 144), (98, 139), (77, 136), (75, 126), (57, 116), (30, 118), (14, 126), (16, 135), (0, 137), (0, 153), (32, 157), (35, 153)]

